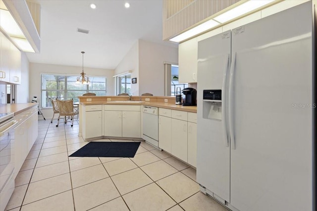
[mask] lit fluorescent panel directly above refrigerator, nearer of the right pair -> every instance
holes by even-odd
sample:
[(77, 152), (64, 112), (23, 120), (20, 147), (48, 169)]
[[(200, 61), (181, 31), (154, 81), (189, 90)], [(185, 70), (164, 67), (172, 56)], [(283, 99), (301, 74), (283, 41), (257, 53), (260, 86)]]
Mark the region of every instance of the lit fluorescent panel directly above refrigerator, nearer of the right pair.
[(249, 0), (237, 7), (234, 7), (233, 9), (222, 13), (221, 15), (214, 17), (213, 19), (220, 23), (224, 23), (252, 10), (255, 10), (261, 6), (264, 6), (272, 1), (273, 0)]

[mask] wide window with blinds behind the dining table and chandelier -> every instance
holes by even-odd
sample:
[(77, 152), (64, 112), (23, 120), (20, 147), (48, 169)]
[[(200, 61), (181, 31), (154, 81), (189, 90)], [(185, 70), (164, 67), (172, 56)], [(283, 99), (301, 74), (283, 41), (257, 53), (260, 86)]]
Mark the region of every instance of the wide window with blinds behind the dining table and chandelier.
[(90, 84), (75, 84), (76, 79), (77, 76), (41, 74), (41, 107), (52, 107), (50, 98), (78, 102), (77, 97), (86, 92), (106, 95), (106, 77), (89, 77)]

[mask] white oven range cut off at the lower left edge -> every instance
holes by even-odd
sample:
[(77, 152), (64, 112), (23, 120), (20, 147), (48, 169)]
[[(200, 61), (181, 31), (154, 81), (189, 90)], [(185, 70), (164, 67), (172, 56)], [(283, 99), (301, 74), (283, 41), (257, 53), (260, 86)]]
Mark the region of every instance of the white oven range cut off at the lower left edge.
[(4, 211), (14, 190), (14, 114), (0, 114), (0, 211)]

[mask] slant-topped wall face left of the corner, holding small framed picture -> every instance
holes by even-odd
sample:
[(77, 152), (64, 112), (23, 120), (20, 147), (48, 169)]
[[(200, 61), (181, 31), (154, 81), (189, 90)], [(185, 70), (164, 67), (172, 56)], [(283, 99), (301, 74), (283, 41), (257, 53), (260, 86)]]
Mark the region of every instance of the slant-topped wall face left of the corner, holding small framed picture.
[[(137, 84), (131, 84), (131, 94), (132, 95), (139, 95), (139, 41), (133, 44), (133, 46), (130, 48), (128, 53), (123, 57), (123, 59), (120, 61), (118, 66), (114, 70), (113, 75), (118, 75), (120, 73), (124, 73), (127, 71), (132, 71), (131, 73), (131, 79), (137, 78)], [(115, 87), (115, 80), (116, 78), (113, 78), (114, 82), (114, 95), (116, 94), (116, 87)]]

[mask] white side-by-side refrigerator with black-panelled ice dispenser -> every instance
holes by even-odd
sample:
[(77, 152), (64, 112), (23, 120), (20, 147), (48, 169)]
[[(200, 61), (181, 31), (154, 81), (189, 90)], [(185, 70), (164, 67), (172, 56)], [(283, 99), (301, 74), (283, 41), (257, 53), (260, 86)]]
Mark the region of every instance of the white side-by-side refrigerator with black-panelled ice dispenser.
[(309, 1), (198, 42), (197, 182), (231, 210), (313, 210), (313, 16)]

